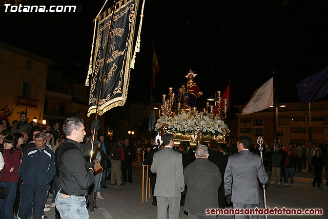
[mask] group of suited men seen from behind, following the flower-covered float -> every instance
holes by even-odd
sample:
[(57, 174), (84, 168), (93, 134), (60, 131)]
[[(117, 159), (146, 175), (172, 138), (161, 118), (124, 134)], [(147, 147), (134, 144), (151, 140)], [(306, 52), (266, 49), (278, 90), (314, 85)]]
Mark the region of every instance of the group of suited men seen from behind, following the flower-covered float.
[(185, 206), (188, 218), (216, 218), (206, 210), (231, 205), (260, 207), (257, 179), (267, 184), (268, 175), (261, 157), (250, 152), (251, 143), (249, 137), (240, 136), (235, 148), (214, 140), (197, 147), (181, 142), (176, 147), (173, 135), (164, 134), (162, 147), (154, 146), (143, 163), (151, 166), (157, 218), (167, 218), (168, 207), (170, 218), (179, 218), (180, 206)]

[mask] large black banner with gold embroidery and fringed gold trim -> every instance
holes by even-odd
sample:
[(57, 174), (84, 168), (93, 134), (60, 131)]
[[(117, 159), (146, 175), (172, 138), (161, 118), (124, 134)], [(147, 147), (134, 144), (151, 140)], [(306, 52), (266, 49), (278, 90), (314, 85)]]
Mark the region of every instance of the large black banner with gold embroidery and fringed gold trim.
[(130, 61), (138, 2), (138, 0), (128, 1), (126, 4), (120, 5), (115, 11), (106, 62), (104, 59), (112, 13), (105, 12), (103, 16), (100, 16), (101, 20), (98, 22), (96, 30), (88, 116), (96, 113), (99, 80), (104, 66), (106, 72), (102, 80), (104, 85), (101, 89), (99, 115), (125, 104), (129, 87)]

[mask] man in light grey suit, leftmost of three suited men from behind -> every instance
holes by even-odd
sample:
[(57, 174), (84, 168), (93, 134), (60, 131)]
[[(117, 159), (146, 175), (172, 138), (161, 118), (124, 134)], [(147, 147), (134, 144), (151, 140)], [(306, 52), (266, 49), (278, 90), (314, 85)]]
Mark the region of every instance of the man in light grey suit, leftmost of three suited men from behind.
[(157, 196), (157, 218), (166, 219), (169, 206), (170, 219), (179, 218), (181, 192), (185, 190), (183, 180), (182, 155), (174, 151), (173, 134), (163, 135), (165, 147), (154, 153), (150, 167), (157, 173), (154, 196)]

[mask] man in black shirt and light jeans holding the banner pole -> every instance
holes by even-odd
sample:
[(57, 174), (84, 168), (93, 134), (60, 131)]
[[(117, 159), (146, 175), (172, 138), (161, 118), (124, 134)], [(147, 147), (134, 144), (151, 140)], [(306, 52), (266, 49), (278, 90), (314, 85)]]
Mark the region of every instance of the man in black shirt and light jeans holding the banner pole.
[[(87, 163), (81, 151), (81, 144), (86, 135), (83, 120), (68, 117), (64, 123), (66, 140), (57, 149), (60, 190), (55, 204), (61, 218), (89, 218), (85, 195), (93, 183), (94, 163)], [(75, 208), (70, 208), (75, 206)]]

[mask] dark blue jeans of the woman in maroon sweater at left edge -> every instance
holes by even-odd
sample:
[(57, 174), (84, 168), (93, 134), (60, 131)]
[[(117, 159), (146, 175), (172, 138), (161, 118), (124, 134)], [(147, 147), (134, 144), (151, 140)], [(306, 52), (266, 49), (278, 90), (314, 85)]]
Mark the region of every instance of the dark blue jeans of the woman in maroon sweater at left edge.
[(16, 190), (17, 183), (15, 182), (0, 182), (1, 187), (9, 188), (9, 192), (6, 198), (0, 198), (0, 218), (14, 218), (14, 211), (12, 210), (15, 199), (16, 199)]

